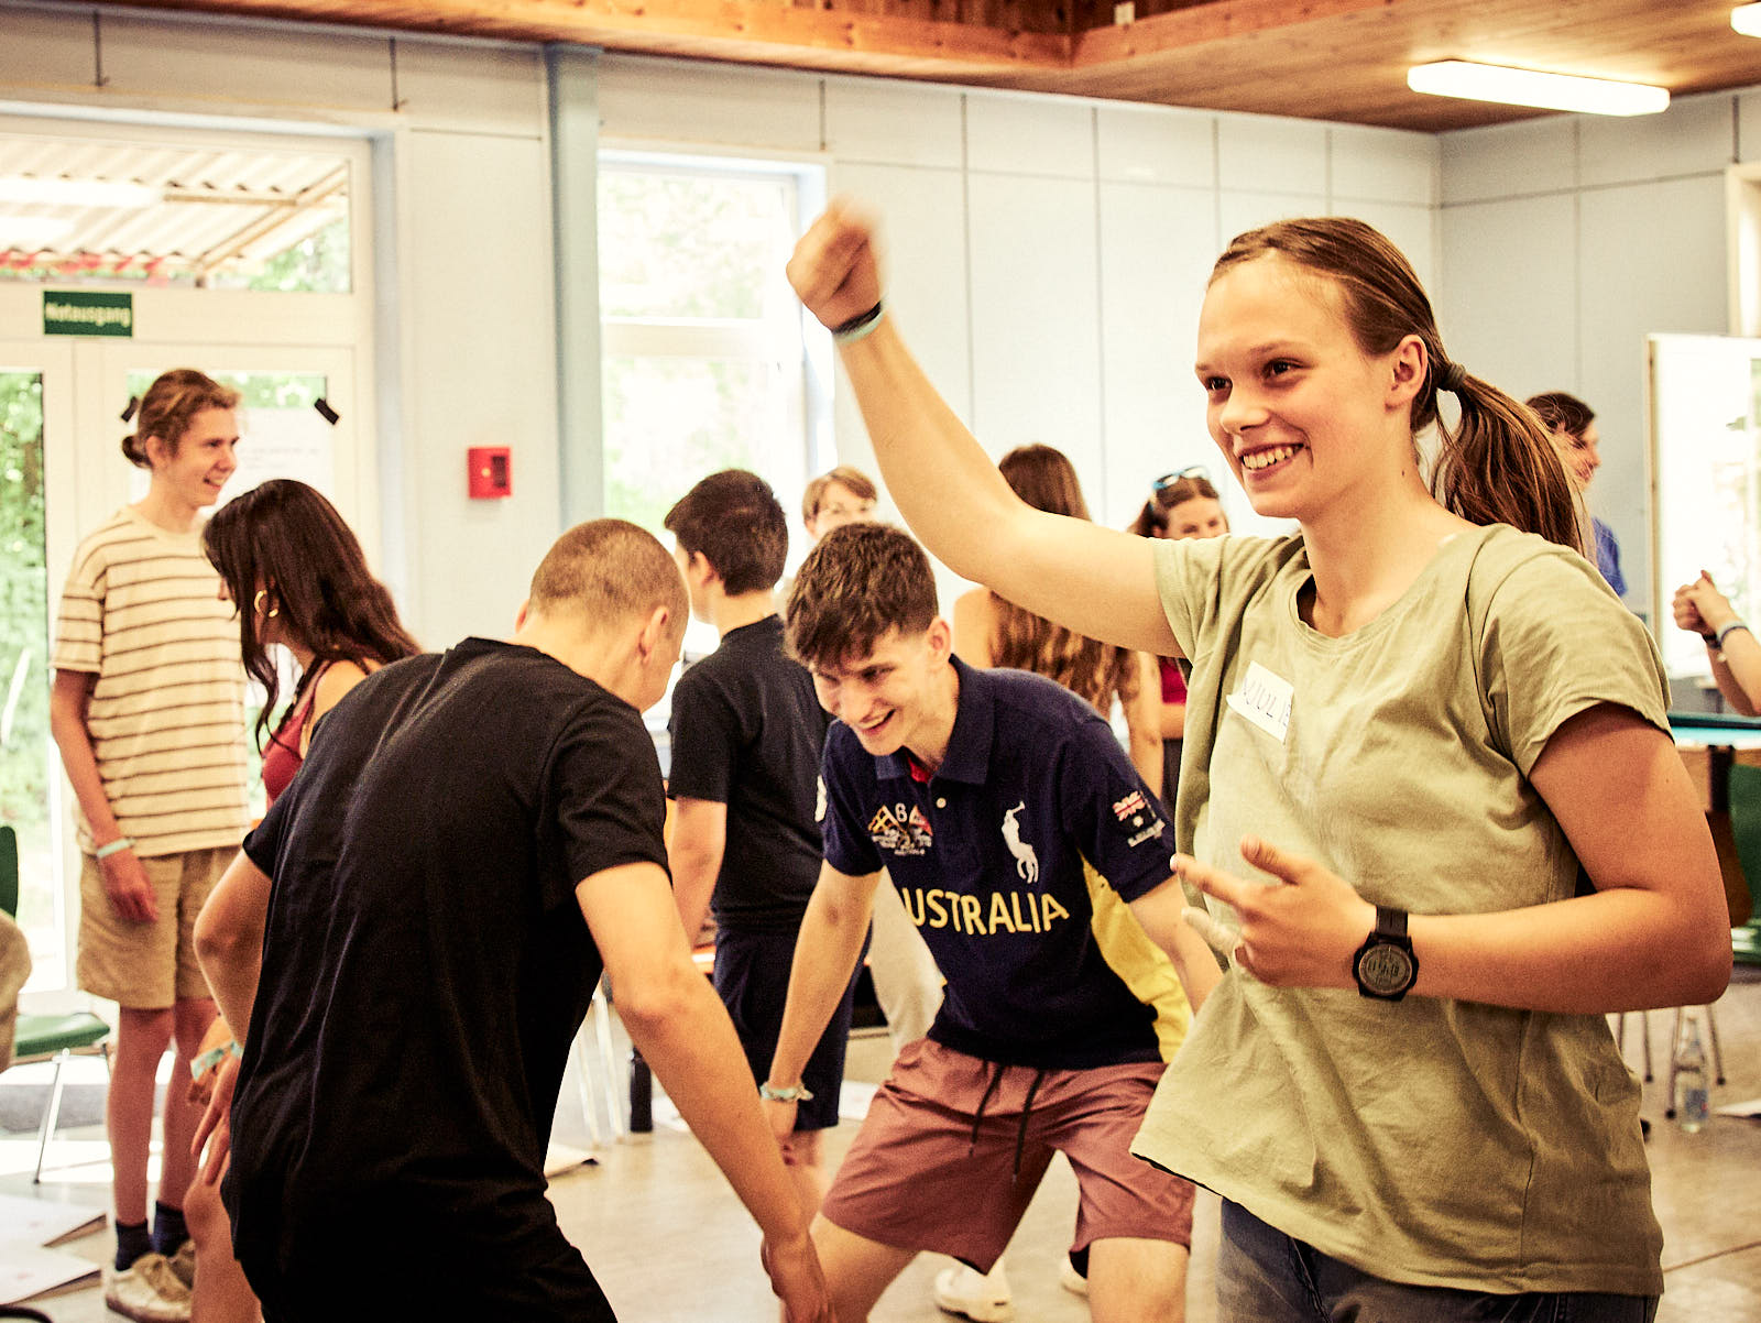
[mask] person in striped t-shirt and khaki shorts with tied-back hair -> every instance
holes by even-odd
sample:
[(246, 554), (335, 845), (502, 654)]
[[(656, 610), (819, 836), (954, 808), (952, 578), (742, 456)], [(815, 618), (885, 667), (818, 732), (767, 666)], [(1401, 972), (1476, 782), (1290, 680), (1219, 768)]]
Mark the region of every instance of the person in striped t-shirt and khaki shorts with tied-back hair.
[(85, 992), (118, 1011), (106, 1126), (116, 1260), (104, 1298), (134, 1318), (187, 1298), (174, 1261), (201, 1110), (166, 1096), (164, 1164), (146, 1223), (155, 1075), (180, 1071), (215, 1015), (195, 964), (195, 911), (245, 833), (245, 675), (203, 514), (238, 469), (238, 393), (194, 368), (162, 373), (123, 437), (146, 497), (74, 551), (56, 622), (49, 728), (79, 800), (79, 962)]

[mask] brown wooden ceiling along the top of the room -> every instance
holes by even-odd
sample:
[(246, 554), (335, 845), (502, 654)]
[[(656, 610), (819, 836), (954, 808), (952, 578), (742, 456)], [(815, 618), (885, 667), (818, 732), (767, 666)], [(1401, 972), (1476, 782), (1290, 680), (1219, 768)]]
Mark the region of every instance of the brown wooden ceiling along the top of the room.
[[(72, 0), (70, 0), (72, 2)], [(1673, 93), (1761, 83), (1733, 0), (118, 0), (1439, 132), (1541, 111), (1421, 97), (1474, 58)]]

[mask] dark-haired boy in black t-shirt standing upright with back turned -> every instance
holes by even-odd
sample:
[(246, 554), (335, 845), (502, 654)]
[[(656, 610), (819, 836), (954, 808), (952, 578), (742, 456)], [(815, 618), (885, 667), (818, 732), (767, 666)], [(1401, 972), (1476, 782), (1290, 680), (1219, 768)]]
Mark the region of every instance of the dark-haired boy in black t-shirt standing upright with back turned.
[[(819, 754), (829, 717), (784, 654), (775, 610), (789, 523), (770, 484), (711, 474), (667, 513), (699, 620), (722, 645), (673, 689), (673, 890), (685, 932), (715, 913), (715, 990), (757, 1083), (770, 1071), (789, 962), (819, 877)], [(782, 1140), (810, 1207), (824, 1194), (819, 1133), (838, 1124), (854, 978), (807, 1062), (794, 1131)]]

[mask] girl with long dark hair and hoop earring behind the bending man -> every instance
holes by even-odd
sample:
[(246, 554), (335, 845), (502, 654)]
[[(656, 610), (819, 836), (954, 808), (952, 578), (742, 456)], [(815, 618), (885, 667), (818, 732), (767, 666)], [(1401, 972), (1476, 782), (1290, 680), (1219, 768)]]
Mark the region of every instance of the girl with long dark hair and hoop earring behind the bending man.
[[(282, 645), (299, 664), (294, 694), (262, 749), (262, 787), (275, 803), (305, 761), (319, 719), (368, 673), (421, 648), (366, 567), (354, 532), (305, 483), (273, 477), (222, 506), (203, 530), (203, 550), (220, 573), (222, 595), (238, 606), (245, 669), (266, 691), (257, 717), (261, 749), (280, 696), (269, 648)], [(236, 1048), (232, 1031), (217, 1020), (204, 1048), (204, 1069), (190, 1089), (201, 1103), (213, 1094), (222, 1059)], [(262, 1312), (232, 1256), (218, 1184), (195, 1180), (185, 1208), (195, 1240), (195, 1318), (255, 1323)]]

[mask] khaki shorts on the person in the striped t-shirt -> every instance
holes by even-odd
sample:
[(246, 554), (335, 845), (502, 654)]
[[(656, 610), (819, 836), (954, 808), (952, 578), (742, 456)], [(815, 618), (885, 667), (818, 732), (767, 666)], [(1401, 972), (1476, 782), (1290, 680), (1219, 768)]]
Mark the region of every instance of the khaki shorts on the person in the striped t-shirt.
[(234, 854), (236, 847), (222, 847), (141, 860), (158, 900), (153, 923), (116, 913), (99, 861), (86, 854), (79, 865), (79, 987), (130, 1011), (211, 995), (195, 964), (195, 916)]

